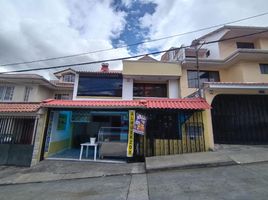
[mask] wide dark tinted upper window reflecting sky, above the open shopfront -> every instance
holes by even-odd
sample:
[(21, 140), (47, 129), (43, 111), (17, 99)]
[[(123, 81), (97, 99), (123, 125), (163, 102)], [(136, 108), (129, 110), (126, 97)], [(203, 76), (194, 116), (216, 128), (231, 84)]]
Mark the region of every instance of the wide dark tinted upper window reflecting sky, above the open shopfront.
[(77, 96), (122, 97), (122, 75), (79, 76)]

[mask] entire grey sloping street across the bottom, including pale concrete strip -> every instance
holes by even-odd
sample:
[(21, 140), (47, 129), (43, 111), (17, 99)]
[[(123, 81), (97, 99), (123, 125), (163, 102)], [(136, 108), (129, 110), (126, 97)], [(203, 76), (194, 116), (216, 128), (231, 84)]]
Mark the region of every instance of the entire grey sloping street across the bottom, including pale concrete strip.
[(139, 196), (143, 188), (153, 200), (266, 200), (268, 163), (5, 185), (0, 186), (0, 199), (146, 199), (146, 193)]

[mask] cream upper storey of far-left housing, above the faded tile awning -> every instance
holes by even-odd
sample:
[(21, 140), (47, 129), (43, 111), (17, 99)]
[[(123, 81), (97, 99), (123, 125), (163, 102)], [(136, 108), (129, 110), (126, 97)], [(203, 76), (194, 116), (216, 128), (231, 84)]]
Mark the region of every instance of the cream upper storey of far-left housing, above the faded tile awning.
[[(58, 75), (59, 72), (55, 74)], [(0, 74), (0, 102), (72, 99), (74, 79), (71, 81), (73, 82), (67, 82), (62, 77), (48, 81), (37, 74)]]

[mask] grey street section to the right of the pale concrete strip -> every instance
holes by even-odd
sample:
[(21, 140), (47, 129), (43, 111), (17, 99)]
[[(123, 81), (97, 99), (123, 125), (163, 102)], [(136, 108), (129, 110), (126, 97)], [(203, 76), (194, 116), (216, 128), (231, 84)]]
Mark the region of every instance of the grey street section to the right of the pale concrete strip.
[(149, 174), (150, 199), (265, 199), (268, 163)]

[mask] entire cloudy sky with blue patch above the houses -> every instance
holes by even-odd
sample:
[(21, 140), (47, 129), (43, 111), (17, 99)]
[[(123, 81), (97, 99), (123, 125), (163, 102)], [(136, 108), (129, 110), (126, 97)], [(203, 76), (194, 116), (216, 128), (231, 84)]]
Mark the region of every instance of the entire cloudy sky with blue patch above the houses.
[[(192, 40), (213, 29), (130, 47), (126, 45), (224, 24), (267, 11), (267, 0), (0, 0), (0, 71), (99, 61), (167, 50), (182, 44), (189, 45)], [(268, 26), (268, 15), (231, 25)], [(99, 50), (107, 51), (1, 66)], [(109, 64), (111, 69), (122, 69), (121, 61)], [(99, 70), (100, 64), (73, 68)], [(53, 79), (55, 71), (27, 73), (38, 73)]]

